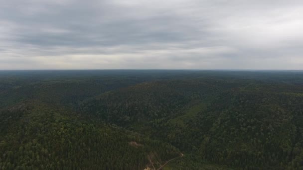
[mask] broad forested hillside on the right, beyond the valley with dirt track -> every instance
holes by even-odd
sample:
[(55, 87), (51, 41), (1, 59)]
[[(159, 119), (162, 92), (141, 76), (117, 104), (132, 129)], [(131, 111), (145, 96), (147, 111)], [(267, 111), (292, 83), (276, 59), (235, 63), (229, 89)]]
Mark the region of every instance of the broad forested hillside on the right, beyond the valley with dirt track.
[(246, 80), (160, 81), (87, 100), (83, 114), (156, 136), (205, 163), (299, 168), (302, 91)]

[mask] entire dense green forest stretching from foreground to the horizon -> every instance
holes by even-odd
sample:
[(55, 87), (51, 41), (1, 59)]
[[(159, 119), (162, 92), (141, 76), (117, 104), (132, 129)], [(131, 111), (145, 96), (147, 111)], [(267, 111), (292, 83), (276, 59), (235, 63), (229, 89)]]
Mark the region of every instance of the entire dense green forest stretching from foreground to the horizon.
[(148, 168), (303, 169), (303, 72), (0, 72), (0, 170)]

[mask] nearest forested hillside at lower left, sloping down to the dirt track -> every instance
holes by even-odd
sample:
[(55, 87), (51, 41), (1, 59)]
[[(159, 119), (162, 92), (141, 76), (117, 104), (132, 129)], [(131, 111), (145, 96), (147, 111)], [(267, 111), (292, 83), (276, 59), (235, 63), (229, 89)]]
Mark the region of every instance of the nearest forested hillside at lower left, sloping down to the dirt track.
[(173, 146), (117, 126), (83, 120), (34, 101), (0, 113), (0, 169), (124, 169), (160, 167), (178, 157)]

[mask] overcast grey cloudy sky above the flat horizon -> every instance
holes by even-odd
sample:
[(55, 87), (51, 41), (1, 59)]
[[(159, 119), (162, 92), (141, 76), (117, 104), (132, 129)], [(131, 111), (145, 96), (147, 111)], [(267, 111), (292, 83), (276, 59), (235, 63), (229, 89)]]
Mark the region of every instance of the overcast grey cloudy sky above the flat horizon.
[(303, 0), (0, 0), (0, 70), (303, 70)]

